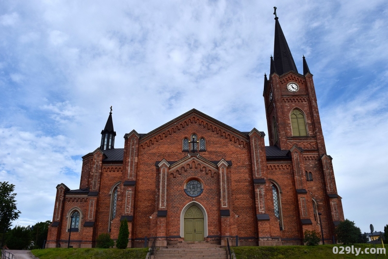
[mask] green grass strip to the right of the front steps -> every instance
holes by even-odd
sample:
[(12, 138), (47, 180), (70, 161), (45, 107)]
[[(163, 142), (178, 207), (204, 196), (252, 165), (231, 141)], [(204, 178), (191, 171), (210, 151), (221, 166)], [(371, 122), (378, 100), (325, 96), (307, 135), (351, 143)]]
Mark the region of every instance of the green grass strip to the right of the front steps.
[[(385, 245), (385, 244), (384, 244)], [(285, 246), (239, 246), (233, 247), (234, 253), (237, 259), (374, 259), (374, 254), (361, 254), (365, 248), (372, 248), (373, 244), (354, 244), (354, 247), (361, 248), (358, 256), (356, 254), (346, 254), (346, 250), (343, 250), (344, 254), (334, 254), (334, 246), (351, 246), (342, 244), (328, 244), (328, 245), (285, 245)], [(381, 244), (376, 244), (377, 247), (382, 247)], [(387, 250), (387, 245), (385, 245)], [(341, 251), (339, 249), (339, 251)], [(355, 251), (356, 253), (356, 251)], [(384, 254), (377, 255), (377, 258), (387, 258)]]

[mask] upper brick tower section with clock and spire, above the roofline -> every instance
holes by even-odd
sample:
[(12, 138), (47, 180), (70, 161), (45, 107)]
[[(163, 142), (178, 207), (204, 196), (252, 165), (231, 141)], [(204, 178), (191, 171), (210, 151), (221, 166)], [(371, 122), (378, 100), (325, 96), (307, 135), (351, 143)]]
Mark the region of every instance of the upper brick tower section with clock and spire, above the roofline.
[(264, 75), (264, 103), (271, 146), (290, 150), (325, 150), (312, 74), (303, 57), (303, 75), (298, 73), (275, 8), (274, 57), (269, 78)]

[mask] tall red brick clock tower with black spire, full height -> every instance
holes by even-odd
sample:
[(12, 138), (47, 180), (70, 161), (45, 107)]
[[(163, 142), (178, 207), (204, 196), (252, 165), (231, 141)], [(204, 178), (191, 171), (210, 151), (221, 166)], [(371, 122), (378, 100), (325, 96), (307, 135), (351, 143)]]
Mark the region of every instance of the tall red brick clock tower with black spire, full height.
[[(313, 75), (305, 57), (303, 74), (298, 73), (276, 16), (276, 8), (274, 14), (274, 57), (271, 57), (269, 77), (264, 75), (263, 91), (270, 146), (289, 151), (292, 161), (290, 176), (296, 188), (301, 232), (312, 226), (308, 215), (319, 212), (324, 215), (319, 224), (330, 229), (325, 236), (331, 237), (344, 216), (332, 157), (326, 154)], [(306, 202), (311, 199), (311, 204)]]

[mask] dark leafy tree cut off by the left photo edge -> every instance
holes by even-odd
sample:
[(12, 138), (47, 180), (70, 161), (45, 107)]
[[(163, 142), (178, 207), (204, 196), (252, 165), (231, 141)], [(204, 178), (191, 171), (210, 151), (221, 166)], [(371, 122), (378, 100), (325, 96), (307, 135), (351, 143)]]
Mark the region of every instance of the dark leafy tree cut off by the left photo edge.
[(14, 184), (0, 182), (0, 231), (3, 232), (1, 247), (4, 244), (4, 233), (11, 227), (11, 221), (19, 217), (20, 212), (16, 209), (16, 193)]

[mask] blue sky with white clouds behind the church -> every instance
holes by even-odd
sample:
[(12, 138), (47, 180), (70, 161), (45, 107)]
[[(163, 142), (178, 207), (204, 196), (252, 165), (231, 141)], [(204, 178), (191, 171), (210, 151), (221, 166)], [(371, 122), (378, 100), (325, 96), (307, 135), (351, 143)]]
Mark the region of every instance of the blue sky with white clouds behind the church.
[(267, 132), (273, 6), (299, 72), (305, 55), (314, 75), (345, 217), (383, 230), (386, 0), (1, 1), (0, 181), (16, 185), (14, 224), (51, 220), (55, 186), (79, 187), (111, 105), (116, 148), (192, 108)]

